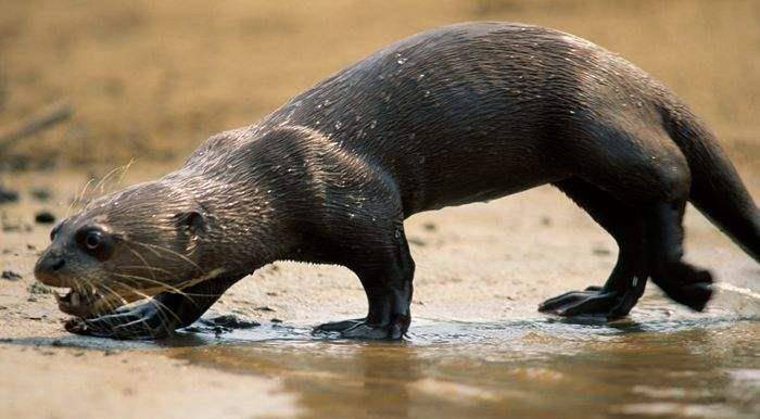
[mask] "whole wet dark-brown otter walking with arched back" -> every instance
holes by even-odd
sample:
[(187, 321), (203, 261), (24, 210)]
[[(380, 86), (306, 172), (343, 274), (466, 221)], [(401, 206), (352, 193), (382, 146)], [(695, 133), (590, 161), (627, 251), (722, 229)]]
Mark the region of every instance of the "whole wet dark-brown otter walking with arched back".
[(157, 339), (268, 263), (337, 264), (369, 309), (315, 331), (401, 339), (415, 272), (404, 219), (545, 183), (619, 253), (604, 285), (541, 312), (619, 318), (648, 279), (702, 310), (712, 276), (682, 261), (687, 202), (760, 261), (757, 205), (668, 88), (569, 34), (467, 23), (397, 41), (211, 137), (178, 170), (93, 200), (52, 230), (35, 275), (71, 288), (67, 330)]

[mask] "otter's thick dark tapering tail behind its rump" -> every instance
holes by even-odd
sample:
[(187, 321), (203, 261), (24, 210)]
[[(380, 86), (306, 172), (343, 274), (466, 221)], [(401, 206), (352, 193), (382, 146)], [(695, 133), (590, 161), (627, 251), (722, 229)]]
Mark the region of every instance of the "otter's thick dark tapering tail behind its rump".
[(668, 106), (669, 134), (692, 170), (689, 201), (718, 228), (760, 263), (760, 211), (734, 165), (685, 106)]

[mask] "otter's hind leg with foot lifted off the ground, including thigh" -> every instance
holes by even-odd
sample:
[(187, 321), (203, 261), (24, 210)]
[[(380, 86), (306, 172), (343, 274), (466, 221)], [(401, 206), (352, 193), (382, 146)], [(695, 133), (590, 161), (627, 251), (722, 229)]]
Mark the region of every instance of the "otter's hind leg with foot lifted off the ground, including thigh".
[(691, 170), (656, 122), (645, 123), (599, 127), (598, 138), (579, 141), (577, 175), (643, 218), (649, 277), (674, 301), (701, 310), (712, 295), (712, 276), (682, 261)]

